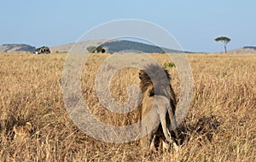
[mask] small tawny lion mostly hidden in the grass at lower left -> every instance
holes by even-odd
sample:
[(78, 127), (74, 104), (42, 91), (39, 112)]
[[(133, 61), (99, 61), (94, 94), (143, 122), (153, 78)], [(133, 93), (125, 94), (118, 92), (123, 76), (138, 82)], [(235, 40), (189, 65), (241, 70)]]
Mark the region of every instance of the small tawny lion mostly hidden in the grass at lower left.
[(14, 141), (26, 141), (30, 138), (32, 132), (32, 124), (26, 122), (25, 125), (14, 126), (15, 136)]

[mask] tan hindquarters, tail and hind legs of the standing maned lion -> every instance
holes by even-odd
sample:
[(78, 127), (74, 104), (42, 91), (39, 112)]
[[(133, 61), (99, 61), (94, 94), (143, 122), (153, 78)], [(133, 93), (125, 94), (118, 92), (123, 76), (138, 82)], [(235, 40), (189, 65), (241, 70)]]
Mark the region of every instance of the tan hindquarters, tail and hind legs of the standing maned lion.
[(176, 121), (175, 119), (173, 119), (173, 115), (171, 116), (168, 114), (169, 109), (171, 109), (170, 101), (162, 95), (155, 95), (153, 97), (149, 97), (148, 102), (144, 103), (141, 130), (143, 133), (142, 135), (147, 136), (141, 139), (141, 146), (143, 149), (149, 147), (150, 151), (154, 152), (156, 136), (160, 138), (163, 137), (164, 139), (162, 140), (166, 140), (166, 142), (170, 144), (173, 143), (170, 128), (172, 128), (172, 122), (175, 123)]

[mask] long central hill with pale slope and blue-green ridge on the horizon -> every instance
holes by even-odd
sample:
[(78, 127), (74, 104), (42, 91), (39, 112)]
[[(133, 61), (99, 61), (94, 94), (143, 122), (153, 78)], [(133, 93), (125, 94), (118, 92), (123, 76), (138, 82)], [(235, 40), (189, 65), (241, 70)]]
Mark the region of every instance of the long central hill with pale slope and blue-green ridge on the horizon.
[[(175, 49), (166, 49), (160, 48), (154, 45), (149, 45), (146, 43), (138, 43), (128, 40), (91, 40), (79, 42), (79, 47), (82, 47), (84, 50), (90, 46), (90, 44), (94, 44), (94, 46), (101, 45), (103, 49), (106, 49), (108, 53), (122, 53), (122, 52), (132, 52), (132, 53), (179, 53), (183, 51), (175, 50)], [(50, 47), (52, 52), (61, 52), (67, 53), (69, 49), (73, 47), (74, 43), (63, 44), (59, 46)]]

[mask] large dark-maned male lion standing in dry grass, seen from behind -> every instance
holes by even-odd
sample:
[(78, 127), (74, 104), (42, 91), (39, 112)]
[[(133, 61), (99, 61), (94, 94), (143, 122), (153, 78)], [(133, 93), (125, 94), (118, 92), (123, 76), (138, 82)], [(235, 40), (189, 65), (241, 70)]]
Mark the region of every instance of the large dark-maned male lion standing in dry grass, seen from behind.
[[(150, 64), (139, 72), (140, 88), (143, 98), (139, 105), (141, 130), (147, 136), (140, 140), (143, 150), (155, 152), (160, 142), (174, 144), (172, 138), (177, 140), (177, 124), (174, 116), (176, 109), (176, 96), (170, 84), (169, 73), (156, 64)], [(146, 118), (147, 117), (147, 118)], [(154, 127), (152, 125), (154, 124)], [(153, 130), (151, 128), (154, 128)], [(152, 130), (148, 132), (149, 130)], [(164, 145), (164, 144), (163, 144)]]

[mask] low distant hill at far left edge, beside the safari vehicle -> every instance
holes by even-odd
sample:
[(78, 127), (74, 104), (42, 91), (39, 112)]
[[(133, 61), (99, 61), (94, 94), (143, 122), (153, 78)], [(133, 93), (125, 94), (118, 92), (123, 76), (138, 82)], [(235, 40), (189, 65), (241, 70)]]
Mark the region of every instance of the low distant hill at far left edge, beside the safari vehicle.
[(13, 44), (3, 44), (0, 45), (0, 52), (1, 53), (12, 53), (12, 52), (18, 52), (18, 53), (23, 53), (23, 52), (32, 52), (36, 48), (32, 47), (31, 45), (28, 44), (19, 44), (19, 43), (13, 43)]

